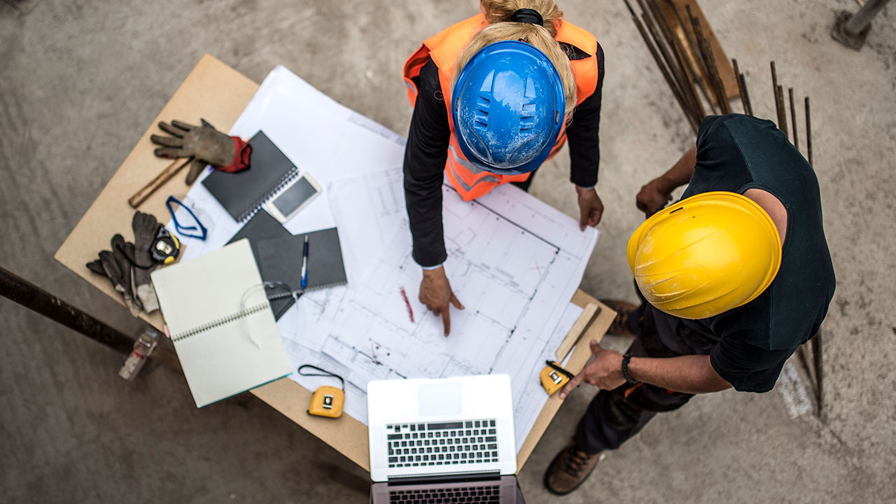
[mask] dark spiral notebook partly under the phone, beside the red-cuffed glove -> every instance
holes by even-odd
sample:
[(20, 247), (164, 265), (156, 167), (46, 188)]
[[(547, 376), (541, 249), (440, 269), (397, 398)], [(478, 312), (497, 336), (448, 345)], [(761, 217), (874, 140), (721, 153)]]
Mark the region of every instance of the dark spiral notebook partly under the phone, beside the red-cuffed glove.
[(202, 180), (202, 186), (237, 222), (250, 219), (271, 196), (298, 177), (296, 166), (263, 131), (256, 133), (249, 145), (252, 152), (248, 169), (237, 173), (215, 170)]

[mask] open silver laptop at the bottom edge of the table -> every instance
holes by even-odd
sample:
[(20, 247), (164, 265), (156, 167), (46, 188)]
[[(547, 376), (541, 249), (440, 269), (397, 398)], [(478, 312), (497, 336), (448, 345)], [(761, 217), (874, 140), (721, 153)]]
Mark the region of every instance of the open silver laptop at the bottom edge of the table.
[(524, 504), (507, 375), (367, 384), (373, 504)]

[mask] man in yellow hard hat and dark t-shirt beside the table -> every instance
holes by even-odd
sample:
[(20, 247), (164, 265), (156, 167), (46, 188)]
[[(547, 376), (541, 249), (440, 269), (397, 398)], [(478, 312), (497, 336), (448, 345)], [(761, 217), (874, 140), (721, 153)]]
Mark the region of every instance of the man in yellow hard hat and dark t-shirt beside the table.
[(547, 468), (558, 494), (658, 412), (730, 387), (771, 390), (833, 296), (818, 179), (771, 121), (706, 117), (696, 145), (642, 187), (637, 206), (648, 219), (627, 255), (642, 303), (607, 301), (618, 312), (611, 332), (635, 339), (625, 354), (592, 341), (594, 359), (560, 393), (600, 388)]

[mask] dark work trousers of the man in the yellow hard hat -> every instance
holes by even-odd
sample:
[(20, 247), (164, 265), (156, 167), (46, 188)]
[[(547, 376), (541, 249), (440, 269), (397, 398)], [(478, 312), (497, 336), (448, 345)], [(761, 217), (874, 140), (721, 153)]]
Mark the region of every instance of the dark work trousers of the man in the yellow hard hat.
[[(641, 307), (628, 317), (629, 329), (637, 335), (628, 352), (633, 357), (657, 358), (709, 354), (713, 343), (693, 333), (678, 320), (653, 308), (642, 298)], [(588, 454), (619, 448), (658, 412), (676, 410), (691, 397), (694, 395), (646, 383), (626, 383), (613, 390), (601, 390), (579, 421), (576, 445)]]

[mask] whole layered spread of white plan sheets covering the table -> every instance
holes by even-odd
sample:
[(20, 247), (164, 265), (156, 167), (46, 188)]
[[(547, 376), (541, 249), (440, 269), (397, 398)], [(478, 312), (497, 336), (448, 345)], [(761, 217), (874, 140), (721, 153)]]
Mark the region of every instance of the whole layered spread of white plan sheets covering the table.
[[(323, 187), (285, 226), (296, 234), (336, 225), (349, 277), (346, 286), (306, 293), (278, 321), (293, 369), (314, 364), (345, 378), (344, 411), (365, 423), (371, 379), (507, 373), (519, 449), (547, 401), (538, 373), (582, 312), (569, 300), (598, 231), (580, 231), (578, 222), (517, 187), (463, 202), (445, 185), (445, 270), (466, 306), (452, 308), (445, 337), (441, 317), (418, 301), (421, 271), (410, 256), (402, 188), (404, 139), (283, 67), (265, 79), (230, 134), (259, 129)], [(210, 230), (205, 241), (184, 239), (183, 259), (222, 247), (241, 227), (202, 184), (185, 204)], [(332, 378), (289, 378), (312, 390), (333, 385)]]

